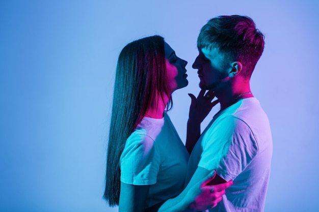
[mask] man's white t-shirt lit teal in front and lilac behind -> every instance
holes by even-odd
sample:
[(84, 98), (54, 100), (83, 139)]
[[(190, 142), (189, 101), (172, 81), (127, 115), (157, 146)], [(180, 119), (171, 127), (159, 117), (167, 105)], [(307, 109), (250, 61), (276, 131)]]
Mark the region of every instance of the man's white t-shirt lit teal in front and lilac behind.
[(209, 211), (263, 211), (272, 158), (272, 135), (267, 115), (256, 98), (246, 98), (211, 120), (195, 145), (187, 181), (197, 166), (216, 170), (233, 185)]

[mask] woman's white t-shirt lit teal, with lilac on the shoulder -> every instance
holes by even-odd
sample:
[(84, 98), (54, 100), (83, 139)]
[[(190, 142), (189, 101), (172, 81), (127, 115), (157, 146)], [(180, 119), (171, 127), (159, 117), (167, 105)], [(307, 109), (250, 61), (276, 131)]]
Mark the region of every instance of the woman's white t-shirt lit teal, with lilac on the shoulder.
[(126, 140), (120, 159), (121, 181), (150, 185), (146, 207), (177, 196), (186, 176), (189, 153), (169, 116), (144, 117)]

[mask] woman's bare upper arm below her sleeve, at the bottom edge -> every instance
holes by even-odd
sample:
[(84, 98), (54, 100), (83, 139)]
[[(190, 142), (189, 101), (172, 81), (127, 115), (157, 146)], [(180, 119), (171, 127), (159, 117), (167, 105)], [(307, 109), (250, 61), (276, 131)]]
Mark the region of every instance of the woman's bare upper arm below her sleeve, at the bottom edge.
[(136, 186), (121, 182), (119, 212), (144, 212), (149, 185)]

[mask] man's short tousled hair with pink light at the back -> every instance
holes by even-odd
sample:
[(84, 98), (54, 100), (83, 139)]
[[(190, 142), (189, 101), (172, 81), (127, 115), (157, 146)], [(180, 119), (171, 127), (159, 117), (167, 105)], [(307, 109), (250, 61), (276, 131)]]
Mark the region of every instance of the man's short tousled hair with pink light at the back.
[(250, 78), (264, 47), (264, 36), (247, 16), (218, 16), (200, 31), (197, 46), (217, 48), (226, 58), (243, 64), (242, 74)]

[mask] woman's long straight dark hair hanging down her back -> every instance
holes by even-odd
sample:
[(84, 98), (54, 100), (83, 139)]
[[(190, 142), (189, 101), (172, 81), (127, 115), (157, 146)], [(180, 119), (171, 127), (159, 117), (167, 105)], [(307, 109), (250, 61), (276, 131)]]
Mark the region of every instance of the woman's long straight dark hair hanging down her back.
[(167, 83), (164, 38), (146, 37), (121, 51), (115, 77), (103, 197), (110, 206), (119, 204), (120, 157), (126, 139), (156, 101), (170, 97)]

